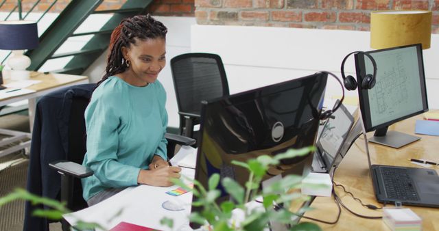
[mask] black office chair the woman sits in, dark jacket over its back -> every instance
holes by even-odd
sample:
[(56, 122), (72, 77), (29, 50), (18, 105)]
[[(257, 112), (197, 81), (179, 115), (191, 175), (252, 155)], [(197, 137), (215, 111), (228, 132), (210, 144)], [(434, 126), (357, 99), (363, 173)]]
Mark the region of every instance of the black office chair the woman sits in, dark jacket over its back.
[[(82, 198), (82, 184), (80, 178), (88, 177), (93, 174), (91, 169), (88, 169), (81, 164), (84, 159), (84, 154), (86, 153), (84, 111), (90, 101), (94, 88), (94, 83), (66, 87), (58, 92), (43, 96), (37, 104), (37, 113), (46, 113), (47, 115), (36, 115), (38, 122), (36, 122), (36, 125), (34, 126), (34, 129), (37, 127), (37, 130), (34, 130), (34, 132), (37, 132), (32, 135), (29, 171), (31, 170), (31, 165), (40, 165), (42, 168), (45, 168), (41, 177), (49, 178), (49, 180), (46, 180), (47, 184), (43, 183), (40, 185), (43, 190), (40, 194), (36, 194), (54, 199), (60, 198), (61, 201), (67, 203), (67, 208), (72, 211), (86, 208), (87, 204)], [(46, 121), (45, 119), (50, 116), (58, 118), (59, 120), (56, 122)], [(62, 120), (63, 118), (65, 120)], [(40, 126), (41, 124), (47, 127), (43, 129)], [(39, 132), (40, 134), (38, 134)], [(51, 138), (45, 139), (48, 136)], [(34, 137), (36, 137), (35, 145)], [(38, 139), (38, 137), (41, 139)], [(165, 137), (168, 140), (167, 150), (169, 158), (174, 155), (176, 144), (195, 144), (195, 140), (188, 137), (172, 134), (166, 134)], [(40, 143), (40, 145), (37, 145), (38, 143)], [(40, 150), (41, 152), (37, 152), (37, 150)], [(34, 151), (38, 158), (32, 158), (32, 151)], [(34, 163), (32, 163), (32, 161)], [(61, 174), (61, 178), (57, 172)], [(48, 174), (49, 176), (45, 176), (44, 174)], [(30, 175), (31, 173), (29, 172), (28, 186), (31, 184), (29, 181), (38, 182), (36, 177)], [(28, 190), (29, 189), (32, 189), (32, 187), (28, 187)], [(47, 193), (47, 191), (52, 193)], [(26, 206), (26, 209), (29, 211), (26, 215), (30, 215), (32, 206), (28, 204)], [(38, 220), (43, 218), (28, 218), (30, 223), (26, 224), (25, 221), (25, 230), (48, 230), (48, 224), (51, 222), (47, 220)], [(32, 226), (32, 223), (35, 224), (35, 222), (40, 223), (40, 225)], [(70, 225), (67, 221), (62, 220), (61, 223), (62, 230), (70, 230)]]

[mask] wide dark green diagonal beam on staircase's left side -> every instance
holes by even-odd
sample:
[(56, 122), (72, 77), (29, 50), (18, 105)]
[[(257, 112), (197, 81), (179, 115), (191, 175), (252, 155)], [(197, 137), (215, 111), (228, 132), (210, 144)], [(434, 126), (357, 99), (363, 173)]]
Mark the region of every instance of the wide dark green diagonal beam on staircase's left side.
[(54, 23), (40, 36), (37, 49), (27, 51), (32, 60), (28, 70), (38, 70), (46, 60), (69, 38), (82, 22), (93, 12), (103, 0), (72, 0), (67, 8), (56, 18)]

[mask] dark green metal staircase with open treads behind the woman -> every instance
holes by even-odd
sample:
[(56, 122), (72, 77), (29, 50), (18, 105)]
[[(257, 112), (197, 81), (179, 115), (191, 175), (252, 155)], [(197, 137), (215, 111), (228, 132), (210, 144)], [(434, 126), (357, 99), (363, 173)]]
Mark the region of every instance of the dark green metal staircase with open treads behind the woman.
[[(35, 4), (39, 2), (36, 1)], [(56, 0), (53, 3), (56, 3)], [(112, 29), (117, 27), (123, 18), (145, 13), (152, 0), (127, 0), (117, 10), (97, 10), (102, 3), (104, 3), (103, 0), (72, 0), (40, 36), (38, 48), (25, 53), (32, 60), (31, 66), (27, 69), (38, 70), (50, 59), (71, 57), (64, 68), (50, 71), (64, 74), (82, 74), (106, 51)], [(32, 9), (29, 11), (32, 11)], [(75, 33), (76, 29), (86, 21), (88, 16), (93, 14), (108, 14), (110, 18), (102, 28), (96, 31)], [(77, 51), (56, 53), (64, 42), (75, 36), (93, 37)]]

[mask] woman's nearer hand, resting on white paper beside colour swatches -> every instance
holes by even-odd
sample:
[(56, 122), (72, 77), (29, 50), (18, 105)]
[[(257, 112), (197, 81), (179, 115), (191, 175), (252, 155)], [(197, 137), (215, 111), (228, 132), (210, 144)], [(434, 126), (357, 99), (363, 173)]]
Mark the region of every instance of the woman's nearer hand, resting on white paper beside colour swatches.
[[(166, 161), (165, 161), (166, 162)], [(171, 178), (180, 178), (181, 167), (167, 166), (156, 169), (143, 170), (137, 176), (137, 182), (144, 185), (169, 187), (174, 185)]]

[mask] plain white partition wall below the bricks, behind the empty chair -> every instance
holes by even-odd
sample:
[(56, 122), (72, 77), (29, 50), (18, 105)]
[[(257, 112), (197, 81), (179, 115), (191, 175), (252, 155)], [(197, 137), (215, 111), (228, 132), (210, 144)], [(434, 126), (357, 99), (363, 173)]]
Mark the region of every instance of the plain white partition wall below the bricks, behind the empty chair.
[[(368, 31), (193, 25), (191, 51), (221, 55), (230, 92), (302, 77), (319, 70), (341, 78), (342, 59), (352, 51), (370, 51)], [(429, 107), (439, 109), (439, 35), (431, 36), (431, 49), (424, 50)], [(355, 73), (353, 56), (346, 73)], [(327, 95), (340, 95), (329, 79)], [(357, 96), (357, 92), (346, 92)]]

